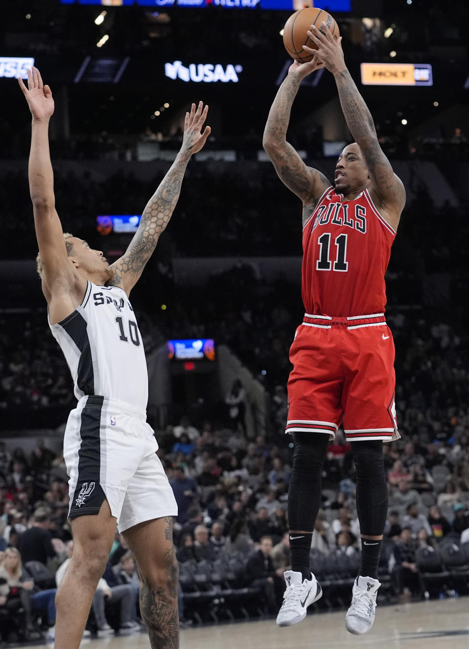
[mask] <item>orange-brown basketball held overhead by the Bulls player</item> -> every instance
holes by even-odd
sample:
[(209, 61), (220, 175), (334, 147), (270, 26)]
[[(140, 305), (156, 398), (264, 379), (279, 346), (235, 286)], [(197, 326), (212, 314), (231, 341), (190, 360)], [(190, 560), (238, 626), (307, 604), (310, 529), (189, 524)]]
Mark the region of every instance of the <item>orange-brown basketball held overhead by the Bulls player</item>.
[(316, 43), (312, 42), (307, 31), (311, 29), (311, 25), (321, 29), (321, 23), (327, 25), (335, 40), (337, 40), (340, 35), (338, 25), (331, 14), (328, 14), (327, 11), (323, 11), (322, 9), (313, 7), (300, 9), (286, 21), (285, 27), (283, 28), (283, 44), (288, 54), (298, 63), (311, 61), (313, 55), (309, 54), (301, 46), (307, 45), (308, 47), (312, 47), (312, 49), (317, 49)]

